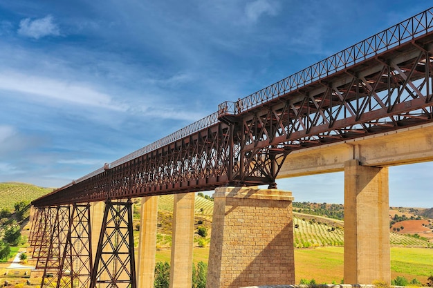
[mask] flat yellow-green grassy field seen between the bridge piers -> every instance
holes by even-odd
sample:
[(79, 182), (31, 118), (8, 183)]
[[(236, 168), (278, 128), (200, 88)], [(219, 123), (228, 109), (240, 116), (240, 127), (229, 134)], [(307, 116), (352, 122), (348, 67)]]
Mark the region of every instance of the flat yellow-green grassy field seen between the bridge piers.
[[(169, 261), (169, 249), (156, 252), (156, 261)], [(194, 263), (208, 262), (209, 248), (194, 249)], [(314, 279), (321, 283), (340, 283), (343, 279), (343, 247), (316, 247), (313, 249), (295, 249), (295, 278), (298, 284), (301, 279)], [(433, 274), (433, 249), (427, 248), (391, 248), (391, 278), (405, 276), (422, 283), (427, 282)]]

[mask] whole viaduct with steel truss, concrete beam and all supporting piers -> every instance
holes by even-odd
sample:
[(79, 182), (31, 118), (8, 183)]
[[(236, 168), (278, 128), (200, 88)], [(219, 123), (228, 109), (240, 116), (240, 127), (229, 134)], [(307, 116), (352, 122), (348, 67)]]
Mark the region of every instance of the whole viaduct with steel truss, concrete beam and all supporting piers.
[(170, 287), (191, 287), (193, 192), (214, 190), (207, 287), (295, 284), (275, 180), (344, 171), (344, 282), (389, 282), (387, 167), (433, 159), (432, 42), (430, 8), (33, 201), (33, 273), (153, 287), (158, 195), (175, 194)]

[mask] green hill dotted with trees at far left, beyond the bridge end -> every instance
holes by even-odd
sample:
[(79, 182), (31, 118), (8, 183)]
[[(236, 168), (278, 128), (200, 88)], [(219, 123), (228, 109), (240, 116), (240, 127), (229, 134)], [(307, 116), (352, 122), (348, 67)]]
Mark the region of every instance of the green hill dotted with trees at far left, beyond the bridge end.
[(7, 208), (12, 211), (15, 203), (21, 201), (31, 202), (53, 190), (53, 188), (42, 188), (33, 184), (19, 182), (0, 183), (0, 210)]

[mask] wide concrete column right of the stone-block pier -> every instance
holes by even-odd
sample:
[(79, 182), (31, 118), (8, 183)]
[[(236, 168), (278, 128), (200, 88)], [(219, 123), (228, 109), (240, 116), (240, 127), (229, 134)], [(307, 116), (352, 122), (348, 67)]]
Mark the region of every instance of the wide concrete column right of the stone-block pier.
[(344, 164), (344, 283), (391, 280), (388, 168)]

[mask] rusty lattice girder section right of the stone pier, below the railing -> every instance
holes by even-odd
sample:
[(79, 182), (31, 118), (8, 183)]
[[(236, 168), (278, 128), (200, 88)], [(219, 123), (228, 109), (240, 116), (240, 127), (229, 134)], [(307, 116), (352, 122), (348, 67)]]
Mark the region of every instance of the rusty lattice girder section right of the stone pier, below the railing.
[(244, 113), (238, 128), (243, 158), (263, 160), (264, 155), (431, 122), (432, 44), (407, 46), (400, 55), (396, 50), (369, 59), (340, 77)]

